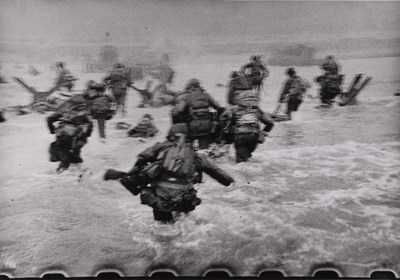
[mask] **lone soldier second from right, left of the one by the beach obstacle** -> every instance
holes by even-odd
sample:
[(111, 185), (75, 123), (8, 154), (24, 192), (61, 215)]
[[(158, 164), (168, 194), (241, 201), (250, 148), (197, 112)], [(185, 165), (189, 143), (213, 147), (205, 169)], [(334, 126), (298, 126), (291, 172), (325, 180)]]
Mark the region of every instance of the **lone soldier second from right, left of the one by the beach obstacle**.
[(310, 88), (310, 84), (297, 76), (295, 69), (292, 67), (286, 70), (286, 75), (289, 76), (289, 79), (285, 81), (278, 103), (279, 107), (282, 103), (287, 103), (286, 115), (290, 120), (292, 112), (296, 112), (303, 102), (304, 94), (307, 88)]

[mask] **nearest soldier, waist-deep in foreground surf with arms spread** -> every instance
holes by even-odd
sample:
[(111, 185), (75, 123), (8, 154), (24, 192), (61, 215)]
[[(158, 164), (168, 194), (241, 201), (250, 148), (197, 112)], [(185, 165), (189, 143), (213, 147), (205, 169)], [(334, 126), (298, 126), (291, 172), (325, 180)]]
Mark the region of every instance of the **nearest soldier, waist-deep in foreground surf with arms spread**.
[[(118, 171), (109, 170), (104, 179), (122, 177), (121, 183), (134, 195), (140, 192), (141, 203), (153, 208), (156, 221), (173, 222), (173, 212), (189, 213), (201, 203), (193, 186), (199, 182), (199, 173), (205, 172), (225, 186), (234, 182), (231, 176), (204, 155), (196, 154), (188, 138), (187, 125), (175, 124), (168, 133), (167, 141), (157, 143), (138, 155), (132, 171), (118, 174)], [(145, 177), (148, 180), (143, 180)], [(138, 188), (141, 180), (144, 186)], [(148, 183), (151, 187), (146, 186)]]

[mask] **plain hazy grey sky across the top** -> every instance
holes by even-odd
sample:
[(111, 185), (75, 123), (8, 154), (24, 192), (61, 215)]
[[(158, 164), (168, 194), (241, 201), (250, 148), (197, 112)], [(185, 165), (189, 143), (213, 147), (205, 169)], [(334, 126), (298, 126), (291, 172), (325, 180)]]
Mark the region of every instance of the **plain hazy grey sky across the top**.
[(242, 35), (400, 37), (400, 2), (0, 0), (1, 41), (104, 42), (106, 32), (110, 41), (124, 43)]

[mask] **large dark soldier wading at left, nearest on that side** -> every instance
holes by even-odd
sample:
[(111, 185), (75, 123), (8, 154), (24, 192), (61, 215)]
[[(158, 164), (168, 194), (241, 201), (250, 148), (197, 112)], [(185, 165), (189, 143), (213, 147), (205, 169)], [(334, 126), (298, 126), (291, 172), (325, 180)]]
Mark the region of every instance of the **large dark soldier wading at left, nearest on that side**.
[[(58, 122), (57, 127), (54, 123)], [(80, 152), (91, 135), (93, 124), (89, 108), (82, 95), (74, 95), (47, 118), (51, 134), (56, 141), (50, 144), (50, 161), (60, 161), (57, 171), (68, 169), (71, 163), (83, 162)]]

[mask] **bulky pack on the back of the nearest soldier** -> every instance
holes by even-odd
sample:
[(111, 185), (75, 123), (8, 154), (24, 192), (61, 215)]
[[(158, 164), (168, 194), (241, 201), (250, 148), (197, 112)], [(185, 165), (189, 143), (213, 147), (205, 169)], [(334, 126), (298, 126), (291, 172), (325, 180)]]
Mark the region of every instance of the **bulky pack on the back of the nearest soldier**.
[(178, 143), (171, 146), (164, 155), (162, 168), (177, 178), (192, 177), (196, 171), (195, 151), (191, 143), (182, 136)]

